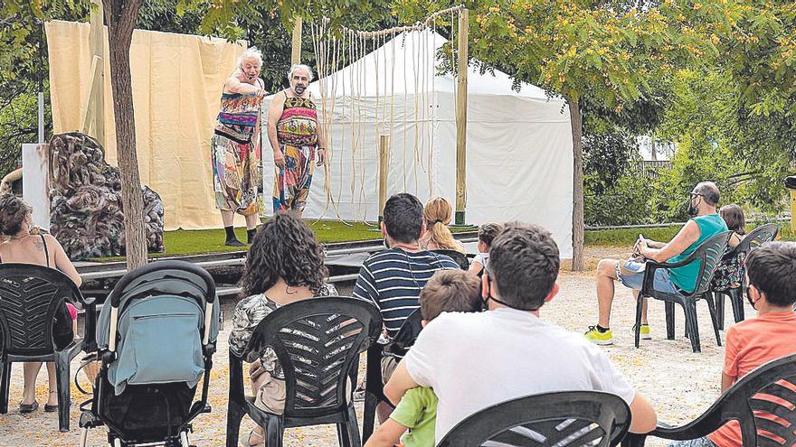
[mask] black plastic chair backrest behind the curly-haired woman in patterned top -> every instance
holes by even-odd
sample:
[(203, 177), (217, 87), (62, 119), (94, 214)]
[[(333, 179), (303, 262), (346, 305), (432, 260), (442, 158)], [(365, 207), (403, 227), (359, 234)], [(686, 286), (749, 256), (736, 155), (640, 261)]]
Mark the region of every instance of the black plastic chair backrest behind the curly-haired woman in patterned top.
[(372, 303), (318, 297), (289, 303), (255, 328), (244, 359), (266, 348), (285, 373), (285, 416), (312, 417), (348, 406), (349, 374), (382, 330)]

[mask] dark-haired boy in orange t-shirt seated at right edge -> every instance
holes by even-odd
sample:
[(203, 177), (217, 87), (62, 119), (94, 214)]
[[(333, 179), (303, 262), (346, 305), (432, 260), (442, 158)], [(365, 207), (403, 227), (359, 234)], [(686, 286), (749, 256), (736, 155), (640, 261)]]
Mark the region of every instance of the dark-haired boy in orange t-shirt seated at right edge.
[[(796, 243), (767, 242), (746, 257), (746, 299), (757, 318), (727, 330), (722, 392), (763, 363), (796, 353)], [(753, 440), (745, 440), (752, 445)], [(676, 447), (741, 447), (740, 425), (732, 421), (704, 438)]]

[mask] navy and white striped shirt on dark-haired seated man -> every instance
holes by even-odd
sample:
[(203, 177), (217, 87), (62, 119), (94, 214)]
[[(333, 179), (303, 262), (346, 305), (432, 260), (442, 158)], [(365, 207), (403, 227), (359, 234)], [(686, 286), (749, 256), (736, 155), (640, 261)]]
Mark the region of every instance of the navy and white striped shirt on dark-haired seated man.
[(457, 268), (459, 265), (448, 256), (391, 248), (367, 258), (359, 270), (354, 296), (379, 308), (392, 339), (406, 317), (420, 307), (417, 299), (431, 275), (437, 270)]

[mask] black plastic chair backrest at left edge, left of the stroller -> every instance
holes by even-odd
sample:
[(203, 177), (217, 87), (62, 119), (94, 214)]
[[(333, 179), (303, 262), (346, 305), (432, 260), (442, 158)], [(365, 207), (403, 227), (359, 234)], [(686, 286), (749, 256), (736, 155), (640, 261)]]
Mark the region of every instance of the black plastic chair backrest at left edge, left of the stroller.
[(63, 301), (83, 302), (69, 276), (43, 265), (0, 264), (0, 352), (52, 354), (52, 323)]

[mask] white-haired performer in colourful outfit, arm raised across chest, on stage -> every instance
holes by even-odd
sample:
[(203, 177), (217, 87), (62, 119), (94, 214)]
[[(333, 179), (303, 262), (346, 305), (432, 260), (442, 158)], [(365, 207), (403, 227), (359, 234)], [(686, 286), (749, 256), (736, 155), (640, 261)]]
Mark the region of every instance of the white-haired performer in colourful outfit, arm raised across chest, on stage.
[(255, 47), (243, 51), (238, 67), (224, 83), (221, 111), (210, 141), (215, 205), (221, 210), (225, 244), (243, 247), (235, 237), (235, 213), (246, 218), (251, 244), (261, 206), (260, 116), (264, 83), (260, 79), (262, 55)]

